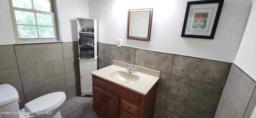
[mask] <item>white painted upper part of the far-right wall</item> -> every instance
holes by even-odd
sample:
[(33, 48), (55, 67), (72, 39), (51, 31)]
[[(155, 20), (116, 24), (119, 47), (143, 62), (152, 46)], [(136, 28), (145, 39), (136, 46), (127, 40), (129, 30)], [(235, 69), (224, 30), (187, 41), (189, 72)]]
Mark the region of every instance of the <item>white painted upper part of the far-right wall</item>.
[(252, 3), (252, 10), (248, 19), (234, 64), (238, 65), (252, 79), (256, 81), (256, 0)]

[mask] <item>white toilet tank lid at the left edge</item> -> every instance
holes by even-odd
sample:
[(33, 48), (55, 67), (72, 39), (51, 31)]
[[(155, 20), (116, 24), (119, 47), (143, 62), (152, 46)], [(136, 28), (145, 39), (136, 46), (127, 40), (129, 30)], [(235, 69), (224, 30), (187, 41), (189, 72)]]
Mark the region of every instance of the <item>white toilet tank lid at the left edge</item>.
[(18, 100), (19, 94), (17, 90), (9, 84), (0, 85), (0, 106), (4, 106)]

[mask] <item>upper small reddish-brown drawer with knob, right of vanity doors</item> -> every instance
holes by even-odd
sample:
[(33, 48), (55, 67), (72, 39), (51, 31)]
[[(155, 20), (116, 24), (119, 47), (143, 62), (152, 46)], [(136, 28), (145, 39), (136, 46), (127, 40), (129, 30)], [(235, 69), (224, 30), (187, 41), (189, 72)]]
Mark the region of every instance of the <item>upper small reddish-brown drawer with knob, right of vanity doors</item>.
[(130, 114), (134, 115), (134, 116), (139, 116), (140, 113), (140, 107), (127, 102), (126, 100), (121, 99), (121, 105), (120, 105), (121, 109), (125, 110), (126, 112), (129, 112)]

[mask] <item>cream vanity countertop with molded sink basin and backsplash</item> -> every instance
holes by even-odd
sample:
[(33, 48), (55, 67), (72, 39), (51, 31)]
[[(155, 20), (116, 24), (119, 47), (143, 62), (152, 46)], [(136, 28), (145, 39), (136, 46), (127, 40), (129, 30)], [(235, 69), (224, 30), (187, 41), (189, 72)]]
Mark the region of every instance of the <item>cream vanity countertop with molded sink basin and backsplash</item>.
[[(137, 67), (136, 73), (129, 73), (128, 66)], [(91, 74), (143, 95), (148, 93), (160, 77), (160, 71), (116, 60), (113, 60), (112, 65), (93, 71)]]

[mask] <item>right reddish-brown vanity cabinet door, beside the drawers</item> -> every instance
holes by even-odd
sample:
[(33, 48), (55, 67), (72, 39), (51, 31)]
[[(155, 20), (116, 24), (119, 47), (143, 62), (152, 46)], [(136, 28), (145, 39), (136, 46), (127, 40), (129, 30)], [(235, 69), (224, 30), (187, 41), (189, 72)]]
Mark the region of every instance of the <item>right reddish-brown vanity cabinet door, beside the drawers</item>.
[(119, 98), (105, 92), (105, 107), (106, 107), (106, 117), (105, 118), (118, 118), (119, 113)]

